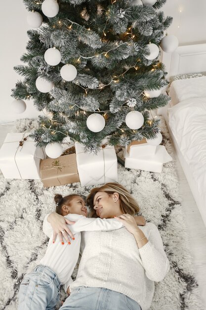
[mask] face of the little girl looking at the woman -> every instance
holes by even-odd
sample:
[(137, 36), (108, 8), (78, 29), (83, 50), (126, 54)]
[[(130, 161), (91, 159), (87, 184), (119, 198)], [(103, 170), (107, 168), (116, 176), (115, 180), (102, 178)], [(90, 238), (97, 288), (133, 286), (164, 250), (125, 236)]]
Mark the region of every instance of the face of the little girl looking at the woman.
[(69, 206), (63, 206), (63, 211), (67, 214), (80, 214), (83, 216), (87, 216), (87, 209), (85, 206), (85, 202), (82, 197), (75, 196), (73, 200), (70, 202)]

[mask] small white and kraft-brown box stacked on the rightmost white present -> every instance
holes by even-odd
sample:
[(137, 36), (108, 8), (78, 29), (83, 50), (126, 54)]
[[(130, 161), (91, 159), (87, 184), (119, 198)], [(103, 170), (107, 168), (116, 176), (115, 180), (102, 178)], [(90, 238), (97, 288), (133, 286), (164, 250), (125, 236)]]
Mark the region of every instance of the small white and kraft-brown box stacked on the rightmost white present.
[(157, 147), (149, 145), (146, 139), (132, 141), (127, 148), (124, 149), (124, 157), (126, 155), (129, 157), (155, 155), (156, 149)]

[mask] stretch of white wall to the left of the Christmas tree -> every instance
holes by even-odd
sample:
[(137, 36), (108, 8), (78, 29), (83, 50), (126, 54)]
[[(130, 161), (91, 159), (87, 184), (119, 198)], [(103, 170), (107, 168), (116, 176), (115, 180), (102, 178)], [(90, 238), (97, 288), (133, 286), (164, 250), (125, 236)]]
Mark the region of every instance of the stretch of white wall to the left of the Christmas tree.
[(26, 101), (24, 113), (12, 113), (10, 104), (14, 100), (11, 89), (21, 79), (14, 70), (15, 65), (21, 64), (21, 55), (26, 52), (28, 41), (27, 10), (22, 0), (5, 0), (0, 10), (0, 123), (13, 121), (17, 118), (33, 118), (41, 114), (33, 106), (32, 101)]

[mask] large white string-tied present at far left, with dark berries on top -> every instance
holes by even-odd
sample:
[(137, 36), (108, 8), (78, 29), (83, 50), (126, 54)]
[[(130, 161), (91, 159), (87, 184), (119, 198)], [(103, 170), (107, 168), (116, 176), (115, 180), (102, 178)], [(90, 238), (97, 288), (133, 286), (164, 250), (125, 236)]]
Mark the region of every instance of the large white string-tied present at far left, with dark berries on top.
[(28, 137), (29, 134), (7, 134), (0, 149), (0, 170), (5, 179), (40, 179), (40, 160), (45, 155), (43, 149), (37, 148)]

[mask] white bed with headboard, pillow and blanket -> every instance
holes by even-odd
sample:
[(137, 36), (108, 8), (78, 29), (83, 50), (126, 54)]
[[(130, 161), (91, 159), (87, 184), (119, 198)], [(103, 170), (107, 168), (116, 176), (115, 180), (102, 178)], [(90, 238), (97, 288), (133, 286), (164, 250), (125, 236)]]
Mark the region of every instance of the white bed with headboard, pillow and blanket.
[(206, 226), (206, 44), (163, 53), (170, 81), (163, 115), (191, 192)]

